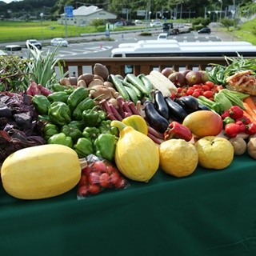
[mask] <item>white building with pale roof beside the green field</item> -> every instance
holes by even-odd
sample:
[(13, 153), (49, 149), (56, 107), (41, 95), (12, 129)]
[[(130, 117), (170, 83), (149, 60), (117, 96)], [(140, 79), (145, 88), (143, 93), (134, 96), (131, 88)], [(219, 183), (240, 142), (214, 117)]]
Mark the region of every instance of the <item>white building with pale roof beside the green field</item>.
[(94, 19), (109, 20), (116, 18), (117, 15), (99, 9), (98, 6), (80, 6), (78, 9), (73, 10), (73, 18), (68, 18), (65, 17), (65, 14), (61, 14), (58, 23), (63, 25), (88, 26)]

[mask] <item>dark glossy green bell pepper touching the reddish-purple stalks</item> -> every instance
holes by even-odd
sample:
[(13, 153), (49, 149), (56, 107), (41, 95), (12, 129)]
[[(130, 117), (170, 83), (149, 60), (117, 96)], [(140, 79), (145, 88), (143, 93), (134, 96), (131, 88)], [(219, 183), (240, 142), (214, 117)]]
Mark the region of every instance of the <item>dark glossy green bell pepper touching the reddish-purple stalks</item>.
[(94, 106), (90, 110), (82, 111), (82, 120), (85, 122), (86, 126), (96, 127), (106, 119), (106, 112), (103, 110), (98, 110), (99, 106)]

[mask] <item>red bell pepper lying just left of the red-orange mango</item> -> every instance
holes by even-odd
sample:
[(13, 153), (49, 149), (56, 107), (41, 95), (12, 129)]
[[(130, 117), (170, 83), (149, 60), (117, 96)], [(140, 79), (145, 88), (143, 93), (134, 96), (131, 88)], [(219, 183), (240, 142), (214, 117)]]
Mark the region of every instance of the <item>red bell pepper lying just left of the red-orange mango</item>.
[(188, 127), (183, 126), (179, 122), (173, 121), (170, 122), (170, 125), (167, 127), (164, 133), (165, 141), (171, 138), (182, 138), (186, 142), (189, 142), (193, 138), (193, 135)]

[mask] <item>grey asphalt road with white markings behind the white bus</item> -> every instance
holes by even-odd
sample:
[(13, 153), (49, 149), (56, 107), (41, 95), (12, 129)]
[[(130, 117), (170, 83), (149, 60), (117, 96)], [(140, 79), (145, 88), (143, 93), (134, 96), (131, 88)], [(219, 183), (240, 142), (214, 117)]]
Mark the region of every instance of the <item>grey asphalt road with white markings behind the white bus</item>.
[[(95, 58), (95, 57), (110, 57), (111, 50), (118, 47), (122, 42), (137, 42), (138, 40), (151, 40), (157, 39), (158, 34), (161, 33), (161, 30), (155, 30), (152, 33), (152, 36), (141, 36), (139, 33), (126, 33), (126, 34), (113, 34), (111, 38), (114, 38), (114, 41), (95, 41), (96, 37), (86, 38), (87, 42), (82, 42), (81, 38), (73, 38), (69, 40), (68, 47), (60, 47), (57, 50), (56, 58)], [(102, 38), (102, 35), (98, 36)], [(218, 34), (212, 33), (208, 34), (198, 34), (195, 31), (186, 34), (170, 35), (169, 39), (175, 39), (178, 42), (207, 42), (207, 41), (225, 41), (222, 38), (218, 37)], [(47, 52), (48, 50), (52, 52), (55, 49), (54, 46), (46, 45), (43, 46), (43, 51)], [(28, 53), (26, 48), (23, 48), (24, 55)]]

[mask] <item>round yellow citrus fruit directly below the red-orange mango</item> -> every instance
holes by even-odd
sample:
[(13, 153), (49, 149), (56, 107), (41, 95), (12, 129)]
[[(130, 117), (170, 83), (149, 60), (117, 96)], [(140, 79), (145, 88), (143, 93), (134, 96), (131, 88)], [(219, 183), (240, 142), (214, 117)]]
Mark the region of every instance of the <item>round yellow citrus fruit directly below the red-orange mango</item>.
[(234, 159), (234, 147), (226, 138), (206, 136), (194, 144), (198, 151), (198, 164), (207, 169), (221, 170)]

